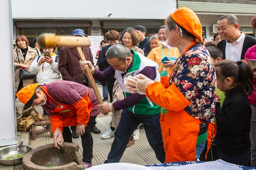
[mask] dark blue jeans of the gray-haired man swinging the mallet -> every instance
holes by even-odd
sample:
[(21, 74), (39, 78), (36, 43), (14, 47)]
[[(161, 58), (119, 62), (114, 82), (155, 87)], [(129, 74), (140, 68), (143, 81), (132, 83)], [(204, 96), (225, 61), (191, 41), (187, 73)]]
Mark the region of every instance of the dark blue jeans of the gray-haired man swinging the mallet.
[(140, 122), (145, 125), (148, 142), (154, 150), (157, 159), (163, 163), (166, 155), (163, 149), (163, 138), (159, 119), (160, 113), (155, 115), (139, 115), (123, 109), (119, 125), (116, 127), (116, 132), (114, 133), (115, 139), (108, 154), (108, 159), (104, 163), (120, 161), (128, 144), (129, 137), (131, 137), (131, 134), (140, 125)]

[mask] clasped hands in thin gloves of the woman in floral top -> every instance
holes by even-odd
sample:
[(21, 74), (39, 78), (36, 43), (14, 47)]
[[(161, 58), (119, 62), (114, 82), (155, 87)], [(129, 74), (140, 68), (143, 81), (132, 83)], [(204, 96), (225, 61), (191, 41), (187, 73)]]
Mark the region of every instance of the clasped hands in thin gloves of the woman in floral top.
[(138, 74), (135, 77), (128, 76), (124, 79), (125, 88), (131, 93), (144, 94), (148, 85), (154, 83), (153, 80), (148, 79), (148, 77), (143, 74)]

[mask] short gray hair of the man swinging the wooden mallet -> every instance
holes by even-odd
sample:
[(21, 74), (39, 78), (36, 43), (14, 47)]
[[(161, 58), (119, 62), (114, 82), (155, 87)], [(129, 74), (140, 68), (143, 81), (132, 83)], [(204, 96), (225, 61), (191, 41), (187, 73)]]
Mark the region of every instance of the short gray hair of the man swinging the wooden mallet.
[(108, 48), (106, 57), (108, 59), (118, 58), (120, 61), (124, 61), (126, 57), (131, 56), (131, 51), (124, 45), (112, 45)]

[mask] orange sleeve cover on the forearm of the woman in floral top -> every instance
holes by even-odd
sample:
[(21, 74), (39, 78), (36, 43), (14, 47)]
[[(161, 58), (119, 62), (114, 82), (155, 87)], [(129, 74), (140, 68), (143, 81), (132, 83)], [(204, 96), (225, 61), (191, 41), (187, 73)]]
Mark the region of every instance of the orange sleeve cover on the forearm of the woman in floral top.
[(148, 85), (145, 92), (152, 102), (169, 111), (182, 111), (191, 104), (174, 83), (165, 88), (160, 82), (155, 82)]

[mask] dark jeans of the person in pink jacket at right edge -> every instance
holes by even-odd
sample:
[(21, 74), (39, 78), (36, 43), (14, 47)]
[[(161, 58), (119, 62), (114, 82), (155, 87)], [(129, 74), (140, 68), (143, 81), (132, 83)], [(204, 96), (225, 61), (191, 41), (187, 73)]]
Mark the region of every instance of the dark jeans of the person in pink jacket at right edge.
[(256, 106), (251, 105), (252, 117), (250, 121), (250, 141), (251, 141), (251, 163), (256, 167)]

